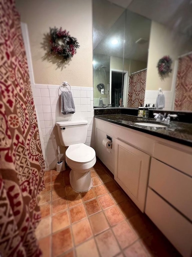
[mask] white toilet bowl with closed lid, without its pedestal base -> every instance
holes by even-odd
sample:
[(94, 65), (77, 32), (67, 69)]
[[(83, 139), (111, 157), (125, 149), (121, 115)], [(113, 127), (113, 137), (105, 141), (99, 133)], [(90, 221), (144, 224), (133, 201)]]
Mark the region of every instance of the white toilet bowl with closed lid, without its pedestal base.
[(95, 150), (83, 143), (70, 145), (66, 152), (67, 165), (72, 170), (86, 172), (95, 165)]

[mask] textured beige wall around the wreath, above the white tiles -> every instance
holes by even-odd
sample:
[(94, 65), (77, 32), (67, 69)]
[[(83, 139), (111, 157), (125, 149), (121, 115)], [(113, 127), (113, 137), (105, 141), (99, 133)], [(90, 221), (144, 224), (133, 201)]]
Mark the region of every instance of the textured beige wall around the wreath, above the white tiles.
[[(27, 23), (35, 83), (93, 86), (92, 71), (92, 1), (91, 0), (16, 0), (21, 21)], [(67, 64), (44, 49), (49, 27), (62, 27), (78, 39), (80, 48)]]

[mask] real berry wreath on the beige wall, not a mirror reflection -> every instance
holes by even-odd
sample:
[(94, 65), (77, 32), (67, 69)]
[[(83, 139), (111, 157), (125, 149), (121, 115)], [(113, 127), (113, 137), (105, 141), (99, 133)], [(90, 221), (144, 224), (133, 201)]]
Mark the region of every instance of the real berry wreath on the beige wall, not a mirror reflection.
[(69, 31), (50, 28), (50, 53), (58, 54), (64, 60), (68, 60), (76, 54), (76, 49), (79, 48), (77, 39), (70, 36)]

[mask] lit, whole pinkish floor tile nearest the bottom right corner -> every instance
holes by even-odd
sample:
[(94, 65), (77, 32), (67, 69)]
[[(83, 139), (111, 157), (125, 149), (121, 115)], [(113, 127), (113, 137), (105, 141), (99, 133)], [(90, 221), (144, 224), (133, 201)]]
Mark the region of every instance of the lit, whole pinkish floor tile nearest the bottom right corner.
[(138, 236), (126, 221), (122, 221), (113, 227), (113, 232), (122, 249), (131, 245), (138, 239)]

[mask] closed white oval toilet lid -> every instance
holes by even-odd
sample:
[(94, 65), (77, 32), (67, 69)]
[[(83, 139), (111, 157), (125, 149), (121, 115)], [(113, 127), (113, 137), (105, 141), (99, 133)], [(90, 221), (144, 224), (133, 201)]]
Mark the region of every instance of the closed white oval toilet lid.
[(90, 162), (95, 158), (95, 150), (85, 144), (70, 145), (65, 155), (72, 161), (76, 162)]

